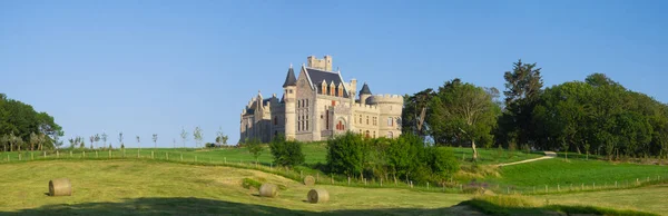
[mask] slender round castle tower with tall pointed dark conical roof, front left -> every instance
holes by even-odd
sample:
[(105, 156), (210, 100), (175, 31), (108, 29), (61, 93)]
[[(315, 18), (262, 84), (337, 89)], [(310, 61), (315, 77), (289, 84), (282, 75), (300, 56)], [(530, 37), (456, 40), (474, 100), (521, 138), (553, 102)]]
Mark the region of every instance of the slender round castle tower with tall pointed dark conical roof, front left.
[(295, 71), (289, 66), (285, 82), (283, 84), (283, 100), (285, 101), (285, 139), (295, 139), (296, 134), (296, 115), (295, 115), (295, 102), (297, 101), (297, 78)]

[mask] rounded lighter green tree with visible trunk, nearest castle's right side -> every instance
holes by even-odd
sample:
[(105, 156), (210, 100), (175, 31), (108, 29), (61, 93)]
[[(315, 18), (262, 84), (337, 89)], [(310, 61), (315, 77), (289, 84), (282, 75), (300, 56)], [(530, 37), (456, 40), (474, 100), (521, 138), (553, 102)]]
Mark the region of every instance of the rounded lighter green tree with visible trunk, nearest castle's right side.
[(475, 141), (491, 145), (492, 128), (500, 108), (485, 89), (460, 79), (446, 81), (432, 99), (429, 120), (434, 140), (440, 144), (471, 141), (473, 159), (478, 159)]

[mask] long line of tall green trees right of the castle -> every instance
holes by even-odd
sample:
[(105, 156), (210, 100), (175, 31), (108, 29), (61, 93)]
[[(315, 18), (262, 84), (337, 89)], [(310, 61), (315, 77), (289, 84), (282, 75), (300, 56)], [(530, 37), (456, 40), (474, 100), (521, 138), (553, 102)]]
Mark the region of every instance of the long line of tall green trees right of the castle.
[(474, 149), (593, 153), (608, 159), (668, 155), (668, 106), (603, 73), (544, 88), (541, 68), (519, 60), (503, 78), (503, 100), (495, 88), (460, 79), (406, 95), (403, 132)]

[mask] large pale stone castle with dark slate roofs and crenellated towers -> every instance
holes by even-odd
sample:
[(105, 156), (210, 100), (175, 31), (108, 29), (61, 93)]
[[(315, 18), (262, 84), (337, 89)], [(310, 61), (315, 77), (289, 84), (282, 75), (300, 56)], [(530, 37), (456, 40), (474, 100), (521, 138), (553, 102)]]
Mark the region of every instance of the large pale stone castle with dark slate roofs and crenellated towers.
[(295, 77), (292, 65), (283, 84), (283, 97), (253, 97), (240, 115), (240, 140), (268, 143), (282, 134), (299, 141), (327, 140), (353, 131), (365, 137), (396, 138), (401, 135), (403, 97), (372, 95), (366, 82), (357, 98), (357, 80), (345, 82), (332, 71), (332, 57), (306, 58)]

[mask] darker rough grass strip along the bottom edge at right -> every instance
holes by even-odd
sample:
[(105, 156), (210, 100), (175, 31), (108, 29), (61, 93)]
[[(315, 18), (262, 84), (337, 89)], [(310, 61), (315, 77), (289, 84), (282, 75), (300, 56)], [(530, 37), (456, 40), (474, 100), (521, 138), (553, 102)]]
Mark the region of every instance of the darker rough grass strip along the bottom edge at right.
[(539, 204), (531, 197), (522, 196), (480, 196), (463, 204), (470, 205), (488, 215), (554, 215), (563, 213), (568, 215), (591, 214), (591, 215), (629, 215), (645, 216), (656, 215), (639, 210), (605, 208), (588, 205), (554, 205), (550, 203)]

